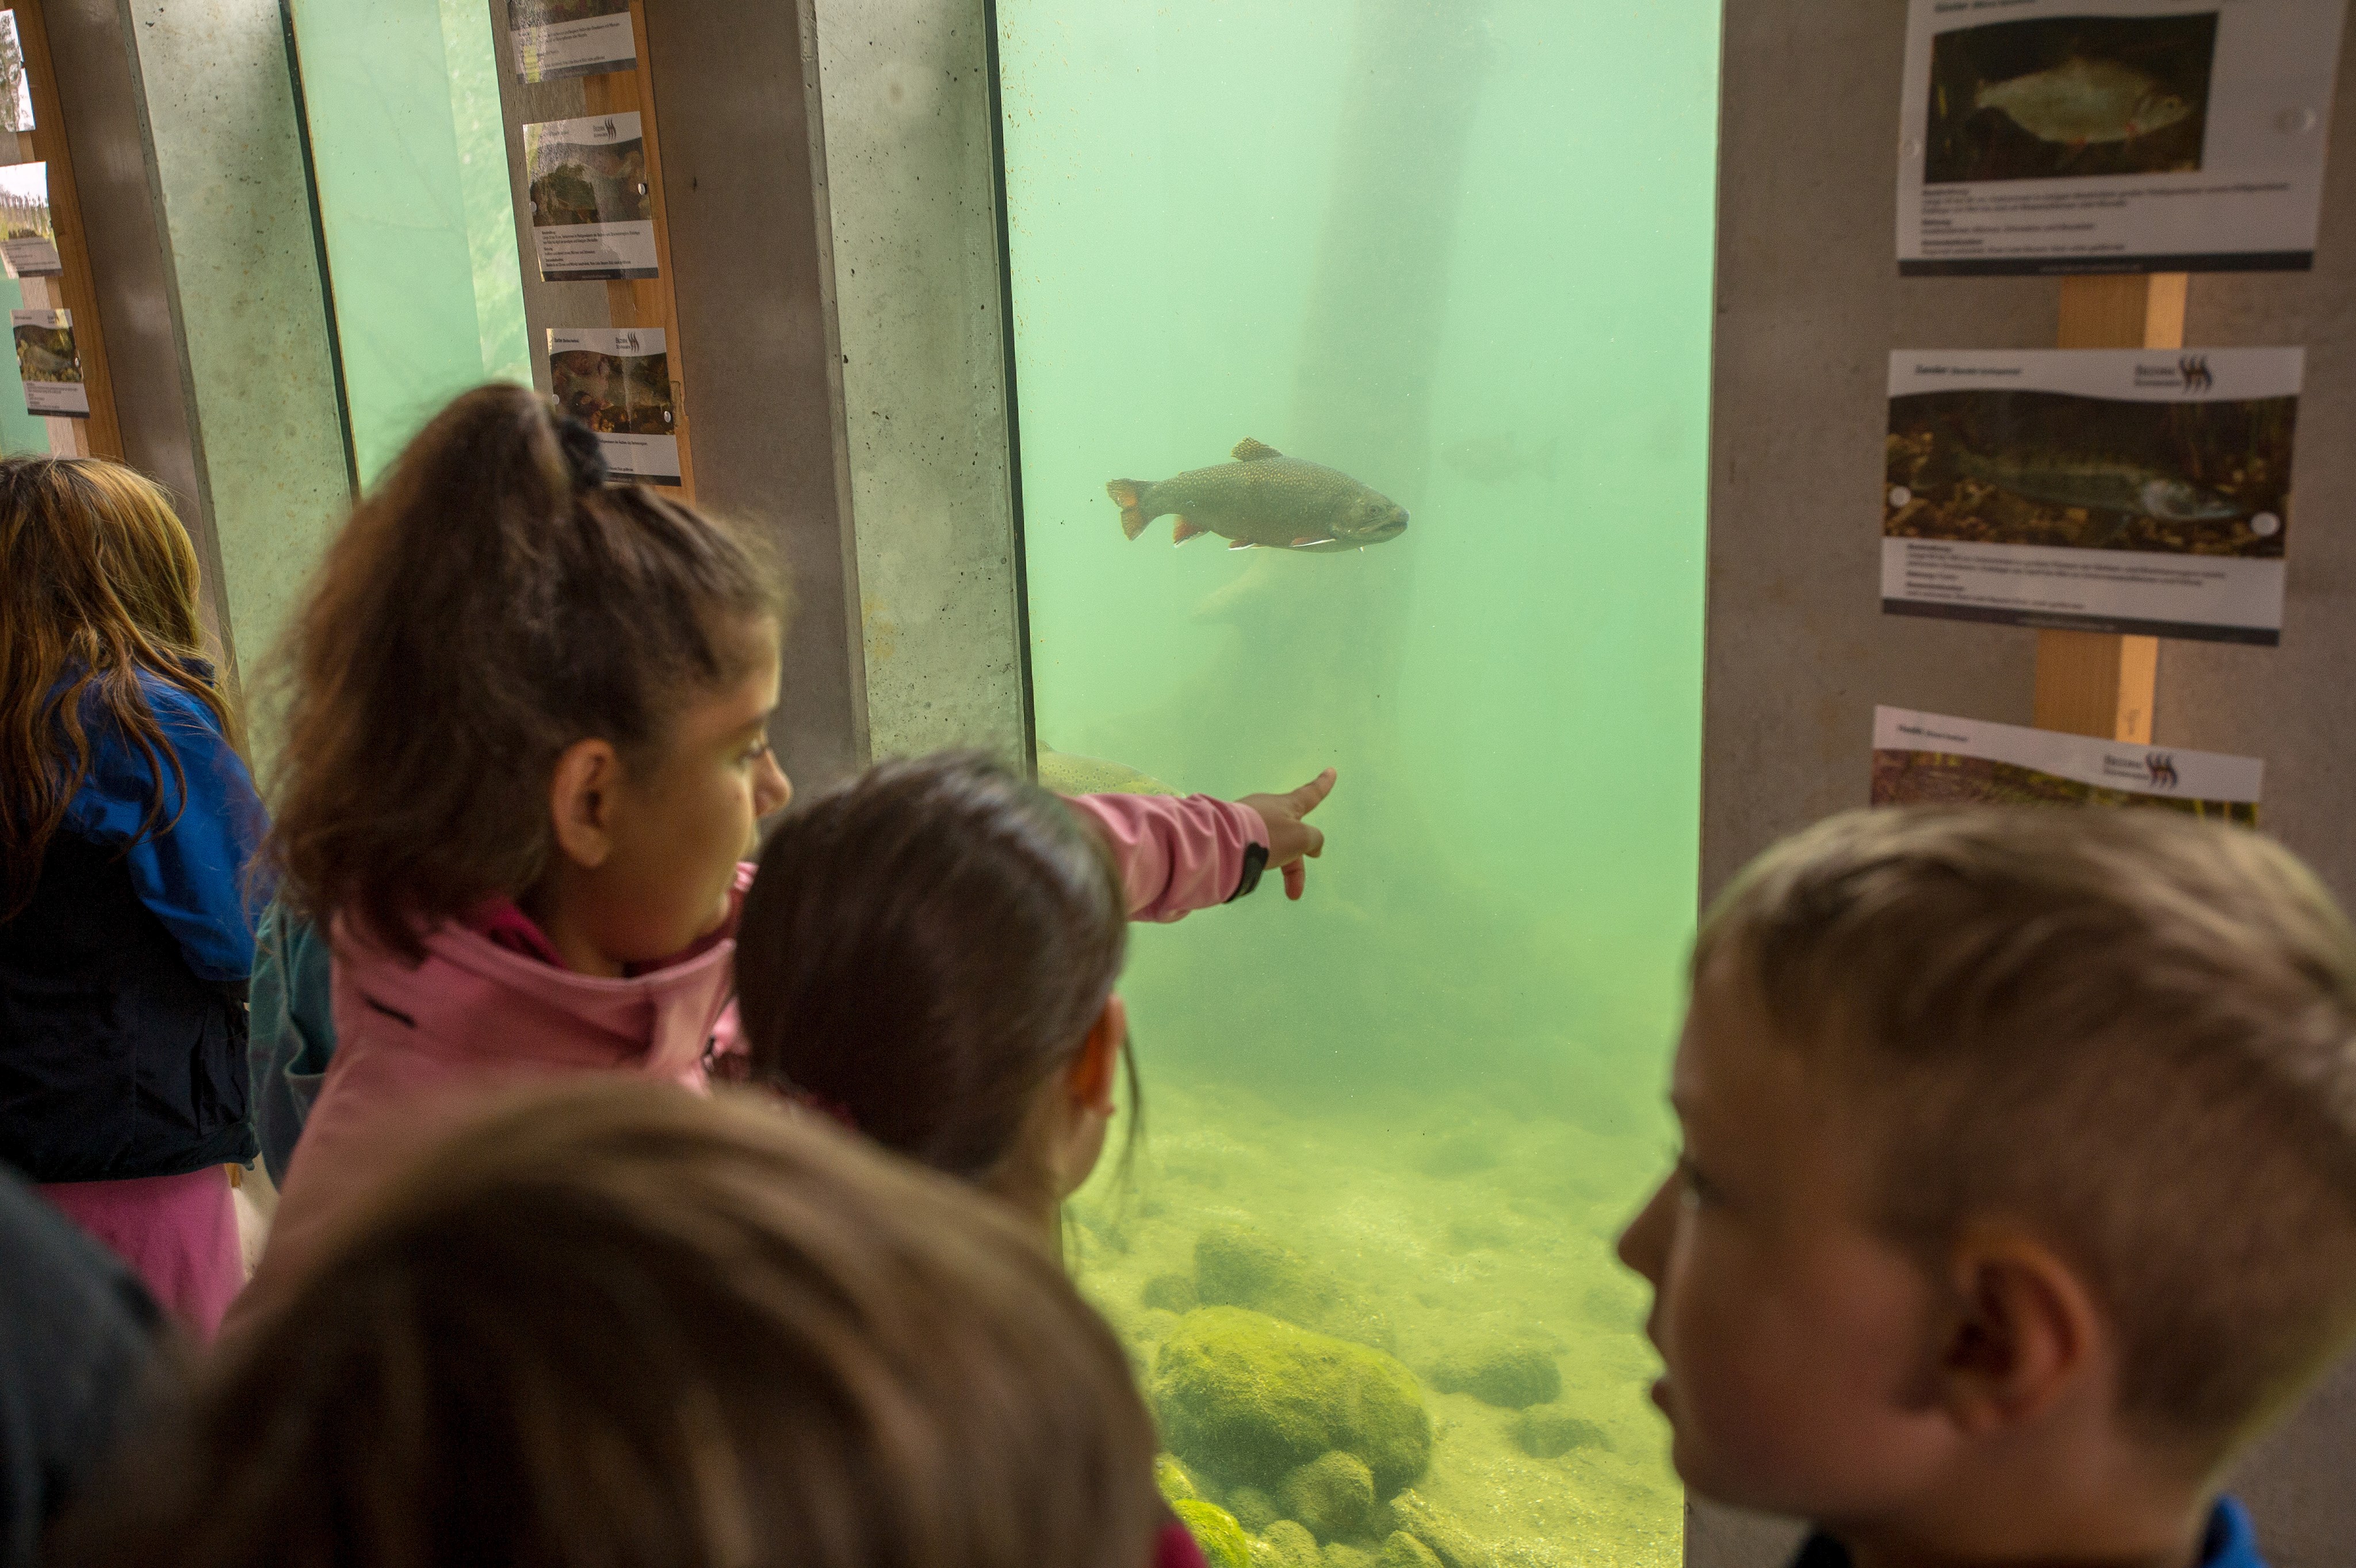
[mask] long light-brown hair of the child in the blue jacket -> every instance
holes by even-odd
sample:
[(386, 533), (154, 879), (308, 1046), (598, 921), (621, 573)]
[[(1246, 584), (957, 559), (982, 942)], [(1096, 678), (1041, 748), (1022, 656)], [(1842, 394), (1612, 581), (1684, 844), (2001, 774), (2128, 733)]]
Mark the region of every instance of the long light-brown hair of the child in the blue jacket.
[(90, 772), (85, 709), (146, 760), (141, 838), (170, 831), (165, 803), (188, 793), (141, 671), (205, 704), (243, 744), (203, 664), (196, 598), (196, 544), (146, 476), (97, 457), (0, 459), (0, 918), (33, 897)]

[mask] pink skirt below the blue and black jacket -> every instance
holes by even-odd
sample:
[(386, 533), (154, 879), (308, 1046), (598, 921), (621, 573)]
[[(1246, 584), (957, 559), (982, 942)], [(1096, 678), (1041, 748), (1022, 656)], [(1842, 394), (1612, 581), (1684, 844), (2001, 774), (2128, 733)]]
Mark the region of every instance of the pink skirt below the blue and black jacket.
[(40, 1189), (127, 1262), (165, 1311), (210, 1342), (245, 1285), (229, 1168), (130, 1182), (52, 1182)]

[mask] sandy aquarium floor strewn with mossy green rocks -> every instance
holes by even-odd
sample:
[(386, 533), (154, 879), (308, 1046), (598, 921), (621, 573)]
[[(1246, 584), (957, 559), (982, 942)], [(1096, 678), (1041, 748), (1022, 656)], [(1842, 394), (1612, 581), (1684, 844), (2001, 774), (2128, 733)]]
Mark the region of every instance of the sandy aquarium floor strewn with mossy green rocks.
[(1166, 1071), (1147, 1128), (1065, 1248), (1213, 1568), (1675, 1568), (1647, 1293), (1612, 1257), (1659, 1140)]

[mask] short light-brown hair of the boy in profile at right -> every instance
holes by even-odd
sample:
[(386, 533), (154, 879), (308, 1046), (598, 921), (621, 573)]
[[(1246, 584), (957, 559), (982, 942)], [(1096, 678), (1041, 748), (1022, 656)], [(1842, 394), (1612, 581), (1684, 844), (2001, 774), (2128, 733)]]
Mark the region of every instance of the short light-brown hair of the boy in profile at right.
[(1854, 1092), (1892, 1236), (2000, 1212), (2064, 1250), (2149, 1431), (2222, 1453), (2356, 1323), (2356, 932), (2281, 845), (1849, 812), (1741, 873), (1694, 975)]

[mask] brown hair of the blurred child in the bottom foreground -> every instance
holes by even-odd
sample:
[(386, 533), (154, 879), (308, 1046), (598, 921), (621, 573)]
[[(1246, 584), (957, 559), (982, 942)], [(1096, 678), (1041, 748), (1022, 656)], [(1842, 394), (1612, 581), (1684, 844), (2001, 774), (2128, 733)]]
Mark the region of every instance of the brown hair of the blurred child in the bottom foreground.
[(384, 1191), (66, 1563), (1145, 1568), (1119, 1342), (978, 1194), (573, 1081)]

